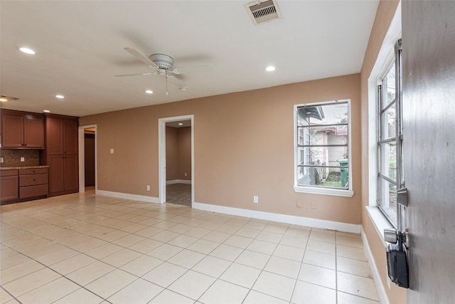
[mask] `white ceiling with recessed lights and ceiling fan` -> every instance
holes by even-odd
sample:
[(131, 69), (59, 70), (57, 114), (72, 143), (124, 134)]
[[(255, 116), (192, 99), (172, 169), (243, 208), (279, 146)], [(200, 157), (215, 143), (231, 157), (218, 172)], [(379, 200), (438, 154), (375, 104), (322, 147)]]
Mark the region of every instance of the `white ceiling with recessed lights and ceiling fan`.
[[(360, 72), (378, 0), (278, 0), (282, 19), (258, 26), (248, 2), (2, 0), (0, 93), (20, 99), (1, 106), (84, 116)], [(114, 77), (152, 71), (125, 47), (212, 70), (166, 96), (160, 75)]]

